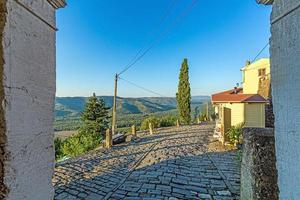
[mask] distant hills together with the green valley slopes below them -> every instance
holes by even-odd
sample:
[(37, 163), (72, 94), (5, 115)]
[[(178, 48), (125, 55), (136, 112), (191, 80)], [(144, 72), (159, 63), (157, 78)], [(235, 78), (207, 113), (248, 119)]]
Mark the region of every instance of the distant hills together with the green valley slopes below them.
[[(99, 96), (104, 99), (108, 107), (112, 107), (112, 96)], [(56, 131), (76, 130), (81, 125), (80, 114), (84, 109), (87, 97), (57, 97), (55, 101)], [(192, 97), (192, 111), (209, 101), (208, 96)], [(175, 97), (118, 97), (118, 127), (127, 127), (131, 124), (140, 124), (148, 115), (164, 116), (176, 115)]]

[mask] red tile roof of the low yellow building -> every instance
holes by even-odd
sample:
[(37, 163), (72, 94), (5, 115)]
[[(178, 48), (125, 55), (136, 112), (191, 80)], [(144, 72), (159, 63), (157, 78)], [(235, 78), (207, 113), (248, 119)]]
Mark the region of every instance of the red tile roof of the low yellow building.
[(243, 88), (227, 90), (211, 96), (213, 103), (266, 103), (268, 102), (259, 94), (243, 94)]

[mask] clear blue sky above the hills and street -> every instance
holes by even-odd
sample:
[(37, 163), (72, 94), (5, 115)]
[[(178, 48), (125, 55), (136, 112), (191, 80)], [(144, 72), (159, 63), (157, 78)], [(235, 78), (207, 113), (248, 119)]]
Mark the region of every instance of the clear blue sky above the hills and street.
[[(271, 8), (255, 0), (199, 0), (172, 26), (192, 1), (177, 0), (159, 26), (173, 0), (69, 0), (57, 13), (57, 96), (112, 95), (114, 74), (149, 45), (153, 30), (169, 27), (172, 31), (123, 78), (175, 96), (181, 62), (188, 58), (192, 95), (234, 87), (245, 61), (269, 40)], [(268, 55), (267, 49), (261, 57)], [(157, 95), (120, 81), (119, 96)]]

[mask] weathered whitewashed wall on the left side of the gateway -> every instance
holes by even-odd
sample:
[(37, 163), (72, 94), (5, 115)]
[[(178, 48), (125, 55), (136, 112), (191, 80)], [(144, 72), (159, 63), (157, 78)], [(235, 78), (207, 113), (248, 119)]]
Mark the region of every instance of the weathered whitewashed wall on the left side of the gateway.
[[(6, 199), (52, 199), (55, 10), (46, 0), (8, 1), (4, 46)], [(44, 21), (42, 21), (41, 19)], [(47, 24), (47, 23), (49, 24)]]

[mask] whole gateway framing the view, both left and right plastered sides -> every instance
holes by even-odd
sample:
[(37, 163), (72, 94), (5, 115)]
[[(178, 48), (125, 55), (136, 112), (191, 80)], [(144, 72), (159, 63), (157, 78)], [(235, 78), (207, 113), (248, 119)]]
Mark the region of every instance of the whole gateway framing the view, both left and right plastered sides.
[[(300, 4), (272, 4), (271, 65), (281, 199), (300, 191)], [(55, 9), (64, 0), (0, 2), (0, 198), (51, 199)]]

